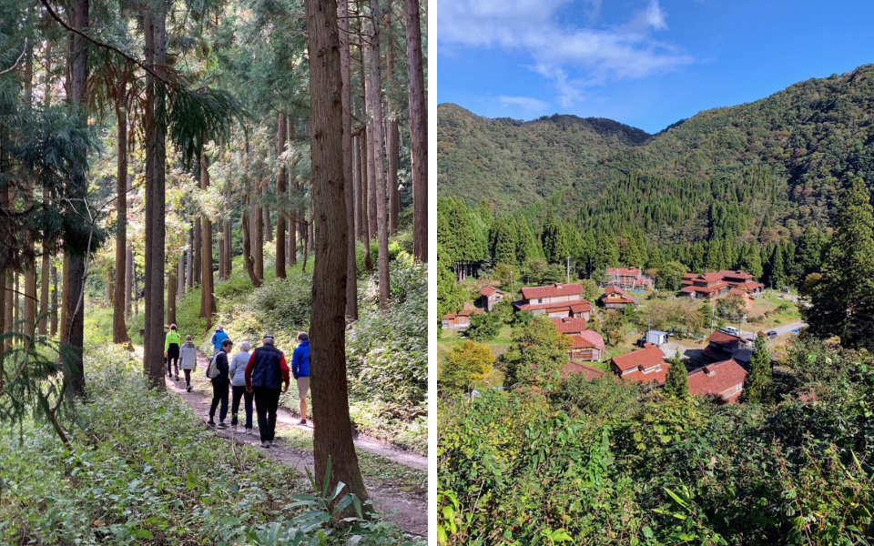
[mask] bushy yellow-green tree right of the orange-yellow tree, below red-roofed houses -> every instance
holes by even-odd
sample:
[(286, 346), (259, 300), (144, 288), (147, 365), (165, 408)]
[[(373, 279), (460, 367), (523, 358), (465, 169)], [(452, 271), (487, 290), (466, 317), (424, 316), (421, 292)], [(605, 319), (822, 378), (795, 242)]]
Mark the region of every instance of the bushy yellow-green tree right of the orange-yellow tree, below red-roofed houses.
[(508, 387), (541, 387), (558, 379), (558, 370), (567, 364), (571, 339), (555, 330), (553, 321), (536, 315), (527, 324), (513, 327), (513, 343), (503, 354)]

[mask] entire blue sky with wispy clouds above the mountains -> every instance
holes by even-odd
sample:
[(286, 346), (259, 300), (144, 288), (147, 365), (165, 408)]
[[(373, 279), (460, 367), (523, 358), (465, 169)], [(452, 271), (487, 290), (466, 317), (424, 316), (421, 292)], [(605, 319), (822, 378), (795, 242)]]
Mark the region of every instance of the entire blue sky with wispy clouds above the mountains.
[(438, 0), (437, 100), (655, 133), (874, 63), (874, 2)]

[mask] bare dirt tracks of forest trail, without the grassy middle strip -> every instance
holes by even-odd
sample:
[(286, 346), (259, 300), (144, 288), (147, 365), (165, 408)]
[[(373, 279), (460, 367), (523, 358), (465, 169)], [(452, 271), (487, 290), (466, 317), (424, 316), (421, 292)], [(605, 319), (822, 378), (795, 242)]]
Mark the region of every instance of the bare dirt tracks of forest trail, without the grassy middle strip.
[[(209, 403), (212, 401), (212, 384), (209, 379), (204, 376), (204, 370), (207, 369), (207, 366), (208, 360), (198, 354), (198, 369), (191, 374), (191, 386), (193, 388), (191, 392), (185, 390), (185, 379), (182, 376), (179, 377), (178, 381), (168, 379), (166, 376), (164, 378), (167, 383), (168, 391), (175, 392), (184, 399), (204, 423), (209, 420)], [(290, 389), (294, 389), (293, 381)], [(230, 401), (231, 397), (229, 394), (228, 419), (226, 420), (228, 424), (230, 424)], [(243, 403), (242, 400), (240, 400), (239, 417), (242, 418), (243, 422), (245, 422), (246, 412), (243, 410), (242, 406)], [(218, 412), (219, 410), (216, 410), (217, 414)], [(219, 416), (216, 415), (216, 421), (218, 422), (218, 420)], [(225, 430), (217, 429), (215, 430), (215, 433), (222, 438), (234, 440), (240, 444), (249, 444), (250, 446), (257, 447), (259, 452), (264, 456), (273, 460), (278, 460), (279, 462), (297, 469), (303, 476), (306, 476), (305, 469), (309, 468), (310, 471), (313, 470), (314, 462), (312, 459), (312, 453), (306, 450), (291, 448), (290, 446), (285, 445), (280, 438), (283, 430), (291, 428), (305, 430), (309, 434), (312, 434), (311, 424), (301, 426), (297, 424), (300, 418), (295, 418), (288, 410), (279, 408), (276, 423), (277, 440), (268, 450), (264, 450), (259, 447), (258, 416), (254, 410), (252, 411), (252, 420), (255, 425), (255, 434), (253, 436), (243, 433), (242, 423), (240, 423), (239, 430), (236, 433), (230, 430), (230, 428)], [(403, 464), (415, 469), (428, 470), (428, 459), (426, 457), (422, 457), (417, 453), (394, 450), (391, 447), (382, 444), (379, 440), (359, 436), (359, 438), (355, 440), (355, 447), (360, 450), (371, 451), (398, 464)], [(399, 493), (388, 490), (387, 487), (383, 486), (383, 484), (378, 481), (365, 479), (364, 483), (367, 486), (367, 492), (371, 495), (371, 500), (379, 511), (386, 514), (394, 510), (397, 511), (394, 515), (386, 515), (385, 517), (387, 520), (394, 521), (401, 526), (401, 529), (412, 535), (428, 538), (427, 490), (422, 491), (421, 494)]]

